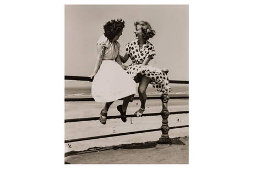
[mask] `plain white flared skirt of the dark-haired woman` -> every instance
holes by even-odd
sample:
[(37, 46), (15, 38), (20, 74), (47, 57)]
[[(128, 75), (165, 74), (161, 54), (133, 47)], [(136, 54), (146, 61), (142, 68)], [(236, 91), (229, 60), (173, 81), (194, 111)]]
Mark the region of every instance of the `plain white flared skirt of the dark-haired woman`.
[(136, 83), (113, 60), (103, 60), (91, 84), (91, 94), (96, 102), (115, 101), (136, 93)]

